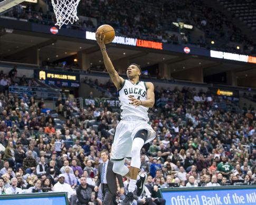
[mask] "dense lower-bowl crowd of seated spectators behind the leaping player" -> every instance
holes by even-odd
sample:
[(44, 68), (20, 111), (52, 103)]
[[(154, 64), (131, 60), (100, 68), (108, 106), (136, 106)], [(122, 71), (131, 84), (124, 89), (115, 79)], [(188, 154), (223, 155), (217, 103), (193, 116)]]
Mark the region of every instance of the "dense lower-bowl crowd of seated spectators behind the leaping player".
[[(155, 95), (149, 116), (157, 137), (141, 150), (149, 191), (135, 196), (135, 204), (159, 198), (159, 188), (255, 184), (253, 108), (233, 112), (229, 100), (218, 107), (210, 91), (192, 87), (156, 87)], [(92, 92), (88, 98), (93, 99)], [(96, 185), (101, 152), (111, 152), (118, 108), (99, 103), (79, 109), (60, 97), (55, 113), (43, 99), (2, 93), (0, 110), (0, 193), (61, 190), (72, 201), (75, 192), (81, 199), (81, 183)], [(124, 181), (127, 191), (129, 179)], [(101, 204), (101, 197), (99, 189), (86, 200)]]

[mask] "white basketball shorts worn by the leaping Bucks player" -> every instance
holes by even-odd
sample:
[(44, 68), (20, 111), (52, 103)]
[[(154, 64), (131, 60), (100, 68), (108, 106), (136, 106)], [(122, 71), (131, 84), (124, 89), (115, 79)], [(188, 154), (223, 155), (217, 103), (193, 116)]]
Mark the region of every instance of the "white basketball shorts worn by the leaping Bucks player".
[(139, 130), (147, 130), (148, 136), (145, 143), (152, 141), (156, 137), (150, 122), (145, 120), (121, 120), (116, 127), (114, 141), (111, 147), (110, 157), (112, 161), (119, 161), (125, 158), (131, 159), (131, 146), (135, 134)]

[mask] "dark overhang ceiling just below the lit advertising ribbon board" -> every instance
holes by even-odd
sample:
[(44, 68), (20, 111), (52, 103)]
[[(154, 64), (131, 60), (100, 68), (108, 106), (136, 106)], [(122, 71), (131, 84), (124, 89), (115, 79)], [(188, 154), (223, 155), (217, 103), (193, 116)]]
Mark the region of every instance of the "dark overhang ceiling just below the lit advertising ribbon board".
[[(21, 55), (38, 52), (42, 61), (55, 61), (75, 56), (78, 52), (88, 55), (92, 65), (102, 64), (102, 55), (92, 40), (62, 37), (51, 34), (38, 34), (22, 30), (0, 30), (0, 59), (18, 61)], [(128, 59), (141, 67), (166, 63), (171, 73), (186, 72), (188, 69), (201, 67), (204, 76), (234, 71), (237, 78), (256, 76), (256, 65), (223, 59), (194, 56), (163, 50), (138, 48), (132, 46), (109, 45), (108, 53), (111, 60)], [(24, 62), (22, 62), (24, 63)]]

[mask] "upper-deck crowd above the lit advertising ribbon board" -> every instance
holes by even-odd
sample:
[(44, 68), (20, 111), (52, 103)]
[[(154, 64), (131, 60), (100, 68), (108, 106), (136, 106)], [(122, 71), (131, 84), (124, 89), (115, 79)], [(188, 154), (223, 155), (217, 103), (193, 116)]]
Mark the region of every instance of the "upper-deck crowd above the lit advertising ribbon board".
[[(27, 19), (33, 23), (54, 25), (55, 15), (51, 1), (45, 0), (45, 3), (48, 4), (47, 11), (33, 4), (28, 4), (26, 8), (17, 5), (4, 15)], [(94, 32), (98, 26), (110, 24), (115, 27), (116, 33), (122, 36), (171, 44), (218, 47), (226, 52), (240, 53), (241, 50), (237, 49), (236, 45), (230, 44), (233, 42), (243, 45), (243, 53), (255, 53), (255, 44), (242, 33), (242, 30), (230, 22), (225, 14), (209, 7), (203, 1), (82, 0), (78, 6), (78, 14), (89, 18), (81, 17), (73, 25), (63, 27)], [(93, 23), (91, 18), (97, 19), (98, 25)], [(192, 38), (191, 30), (176, 27), (173, 24), (175, 22), (193, 25), (202, 30), (203, 34), (197, 35), (197, 39)], [(207, 41), (205, 38), (220, 42), (212, 45), (211, 40)]]

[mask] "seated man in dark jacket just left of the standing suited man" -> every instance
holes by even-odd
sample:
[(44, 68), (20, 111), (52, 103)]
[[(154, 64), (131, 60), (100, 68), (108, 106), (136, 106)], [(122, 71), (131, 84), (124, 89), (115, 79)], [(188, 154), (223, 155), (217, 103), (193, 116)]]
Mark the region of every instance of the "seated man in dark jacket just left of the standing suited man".
[(81, 185), (77, 188), (77, 204), (78, 205), (102, 205), (102, 202), (100, 199), (94, 196), (93, 190), (94, 187), (91, 185), (88, 185), (86, 177), (82, 176), (80, 178)]

